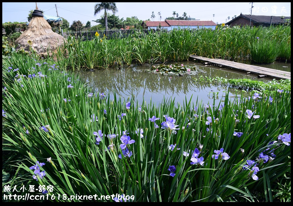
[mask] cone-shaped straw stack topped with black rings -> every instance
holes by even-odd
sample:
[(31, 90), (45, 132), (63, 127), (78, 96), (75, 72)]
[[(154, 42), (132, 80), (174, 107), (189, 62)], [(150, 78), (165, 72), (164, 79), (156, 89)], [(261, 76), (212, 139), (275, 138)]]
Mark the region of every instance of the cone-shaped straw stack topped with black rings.
[[(41, 56), (52, 56), (56, 49), (66, 41), (61, 35), (52, 31), (38, 7), (33, 11), (28, 28), (16, 40), (16, 50), (30, 51), (30, 47)], [(47, 52), (48, 49), (48, 52)]]

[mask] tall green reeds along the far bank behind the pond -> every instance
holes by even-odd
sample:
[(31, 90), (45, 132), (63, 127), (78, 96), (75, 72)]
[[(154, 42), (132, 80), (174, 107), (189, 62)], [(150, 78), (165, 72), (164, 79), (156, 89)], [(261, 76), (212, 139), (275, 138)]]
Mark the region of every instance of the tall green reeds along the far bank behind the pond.
[[(168, 33), (137, 31), (124, 39), (69, 37), (54, 59), (74, 70), (188, 60), (190, 54), (208, 58), (269, 64), (291, 60), (291, 28), (234, 27), (216, 30), (173, 30)], [(65, 52), (64, 54), (64, 51)], [(65, 57), (65, 58), (64, 58)]]

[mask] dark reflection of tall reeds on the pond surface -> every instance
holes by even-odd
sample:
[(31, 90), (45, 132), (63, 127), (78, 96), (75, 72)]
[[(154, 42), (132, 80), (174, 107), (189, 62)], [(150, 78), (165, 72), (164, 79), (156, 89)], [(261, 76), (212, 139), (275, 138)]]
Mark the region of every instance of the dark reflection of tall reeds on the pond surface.
[[(138, 68), (141, 69), (141, 68)], [(144, 68), (145, 69), (145, 68)], [(98, 92), (116, 92), (118, 95), (132, 94), (138, 96), (140, 93), (166, 93), (169, 95), (188, 94), (202, 90), (221, 91), (226, 87), (215, 86), (210, 83), (194, 81), (195, 76), (167, 76), (149, 74), (148, 72), (135, 72), (135, 67), (122, 69), (108, 69), (98, 71), (81, 72), (82, 78), (86, 79), (88, 85)], [(205, 76), (223, 76), (225, 78), (240, 74), (223, 72), (218, 69), (206, 69), (207, 73), (199, 73)], [(233, 77), (231, 77), (233, 78)], [(138, 97), (139, 98), (139, 97)]]

